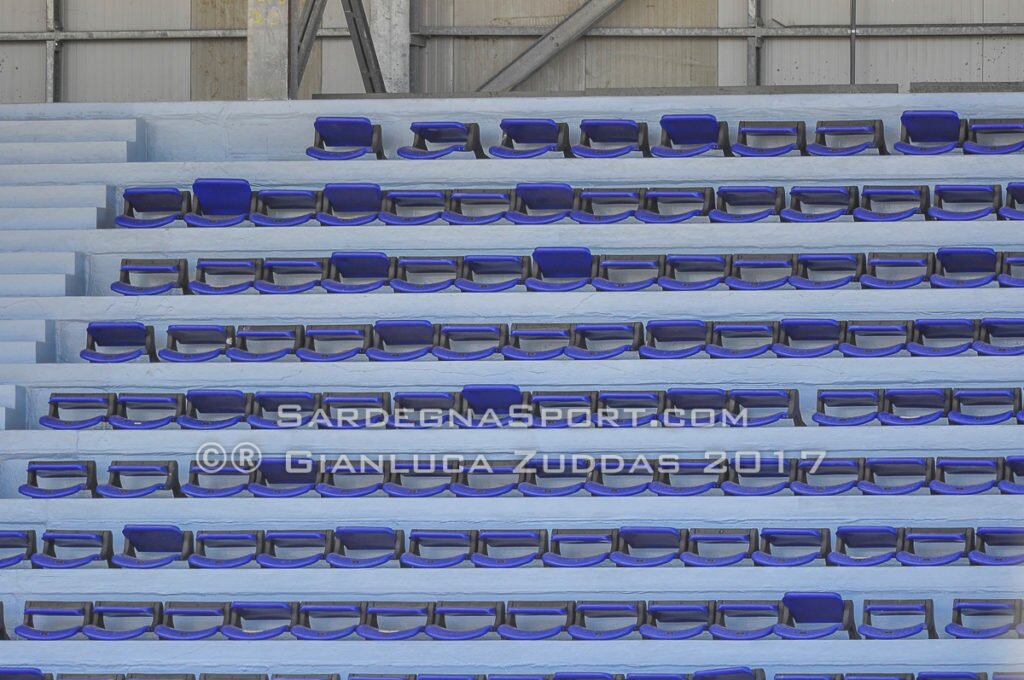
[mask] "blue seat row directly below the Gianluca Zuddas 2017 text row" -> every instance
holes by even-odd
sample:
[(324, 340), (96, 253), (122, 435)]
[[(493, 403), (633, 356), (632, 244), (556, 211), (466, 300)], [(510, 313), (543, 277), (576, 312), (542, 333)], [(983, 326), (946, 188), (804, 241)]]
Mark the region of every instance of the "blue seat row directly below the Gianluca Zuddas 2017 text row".
[[(312, 484), (310, 484), (311, 486)], [(295, 494), (292, 494), (294, 496)], [(280, 496), (280, 495), (279, 495)], [(117, 498), (115, 496), (114, 498)], [(109, 530), (0, 532), (0, 568), (206, 569), (260, 566), (368, 568), (396, 566), (513, 568), (756, 566), (938, 566), (1024, 564), (1024, 527), (919, 528), (850, 525), (836, 528), (412, 529), (339, 526), (266, 530), (129, 524), (115, 553)]]

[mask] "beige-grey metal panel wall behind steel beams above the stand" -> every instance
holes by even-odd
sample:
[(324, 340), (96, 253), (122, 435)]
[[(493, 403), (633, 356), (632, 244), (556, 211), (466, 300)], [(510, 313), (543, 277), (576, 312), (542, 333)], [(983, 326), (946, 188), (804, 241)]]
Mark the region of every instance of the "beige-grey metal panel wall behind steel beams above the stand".
[[(247, 0), (62, 0), (65, 29), (245, 29)], [(374, 0), (365, 0), (370, 14)], [(414, 25), (551, 27), (583, 0), (410, 0)], [(842, 25), (849, 0), (764, 0), (769, 27)], [(858, 0), (859, 25), (1024, 23), (1022, 0)], [(0, 34), (45, 30), (44, 0), (0, 0)], [(599, 27), (742, 27), (746, 0), (626, 0)], [(340, 2), (324, 26), (344, 28)], [(474, 90), (524, 50), (530, 37), (431, 38), (412, 50), (418, 92)], [(378, 45), (378, 49), (382, 46)], [(67, 42), (59, 53), (67, 101), (241, 99), (246, 95), (242, 39)], [(0, 102), (42, 101), (42, 43), (2, 42)], [(860, 38), (856, 81), (1020, 80), (1024, 38)], [(766, 40), (766, 85), (850, 82), (845, 38)], [(586, 37), (517, 89), (565, 92), (600, 88), (743, 85), (743, 39)], [(321, 38), (301, 94), (361, 92), (347, 38)]]

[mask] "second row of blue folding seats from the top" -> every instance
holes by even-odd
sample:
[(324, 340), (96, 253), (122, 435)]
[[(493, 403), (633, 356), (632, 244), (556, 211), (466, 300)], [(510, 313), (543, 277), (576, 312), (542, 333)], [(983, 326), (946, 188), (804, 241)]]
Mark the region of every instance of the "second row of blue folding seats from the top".
[[(934, 197), (934, 199), (932, 198)], [(134, 186), (124, 192), (124, 213), (115, 224), (154, 228), (176, 220), (195, 227), (328, 226), (385, 224), (612, 224), (636, 219), (651, 224), (712, 222), (890, 222), (905, 219), (1024, 220), (1024, 182), (999, 184), (793, 186), (785, 207), (781, 186), (573, 188), (561, 182), (519, 183), (515, 189), (389, 189), (379, 184), (333, 183), (323, 190), (254, 192), (245, 179), (200, 178), (191, 192), (173, 186)]]

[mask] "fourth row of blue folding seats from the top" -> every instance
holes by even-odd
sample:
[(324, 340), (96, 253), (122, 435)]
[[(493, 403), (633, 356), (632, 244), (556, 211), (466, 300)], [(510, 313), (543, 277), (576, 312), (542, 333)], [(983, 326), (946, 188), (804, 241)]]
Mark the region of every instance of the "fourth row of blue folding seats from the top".
[(1024, 354), (1024, 318), (922, 318), (777, 322), (660, 320), (600, 324), (431, 324), (388, 320), (346, 325), (189, 325), (167, 327), (166, 347), (153, 326), (92, 322), (80, 356), (92, 364), (148, 362), (372, 362), (419, 358), (678, 359), (691, 356), (877, 357), (893, 355), (1017, 356)]

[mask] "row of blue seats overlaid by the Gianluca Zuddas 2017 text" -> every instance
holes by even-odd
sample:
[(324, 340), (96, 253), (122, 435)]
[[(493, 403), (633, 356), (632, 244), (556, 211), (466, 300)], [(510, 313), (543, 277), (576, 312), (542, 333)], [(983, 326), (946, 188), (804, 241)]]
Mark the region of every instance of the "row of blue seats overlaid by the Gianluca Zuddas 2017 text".
[(1024, 494), (1024, 456), (785, 458), (758, 455), (729, 460), (724, 455), (709, 455), (703, 459), (662, 456), (591, 461), (573, 457), (537, 457), (519, 461), (444, 457), (394, 462), (369, 457), (315, 461), (263, 456), (258, 465), (251, 468), (227, 465), (211, 470), (193, 461), (183, 484), (178, 464), (173, 460), (114, 461), (106, 472), (108, 481), (100, 484), (95, 461), (31, 461), (27, 481), (18, 487), (18, 493), (35, 499), (226, 498), (239, 495), (292, 498), (306, 494), (325, 498), (373, 495), (552, 498), (645, 494), (761, 497), (786, 493), (796, 496)]

